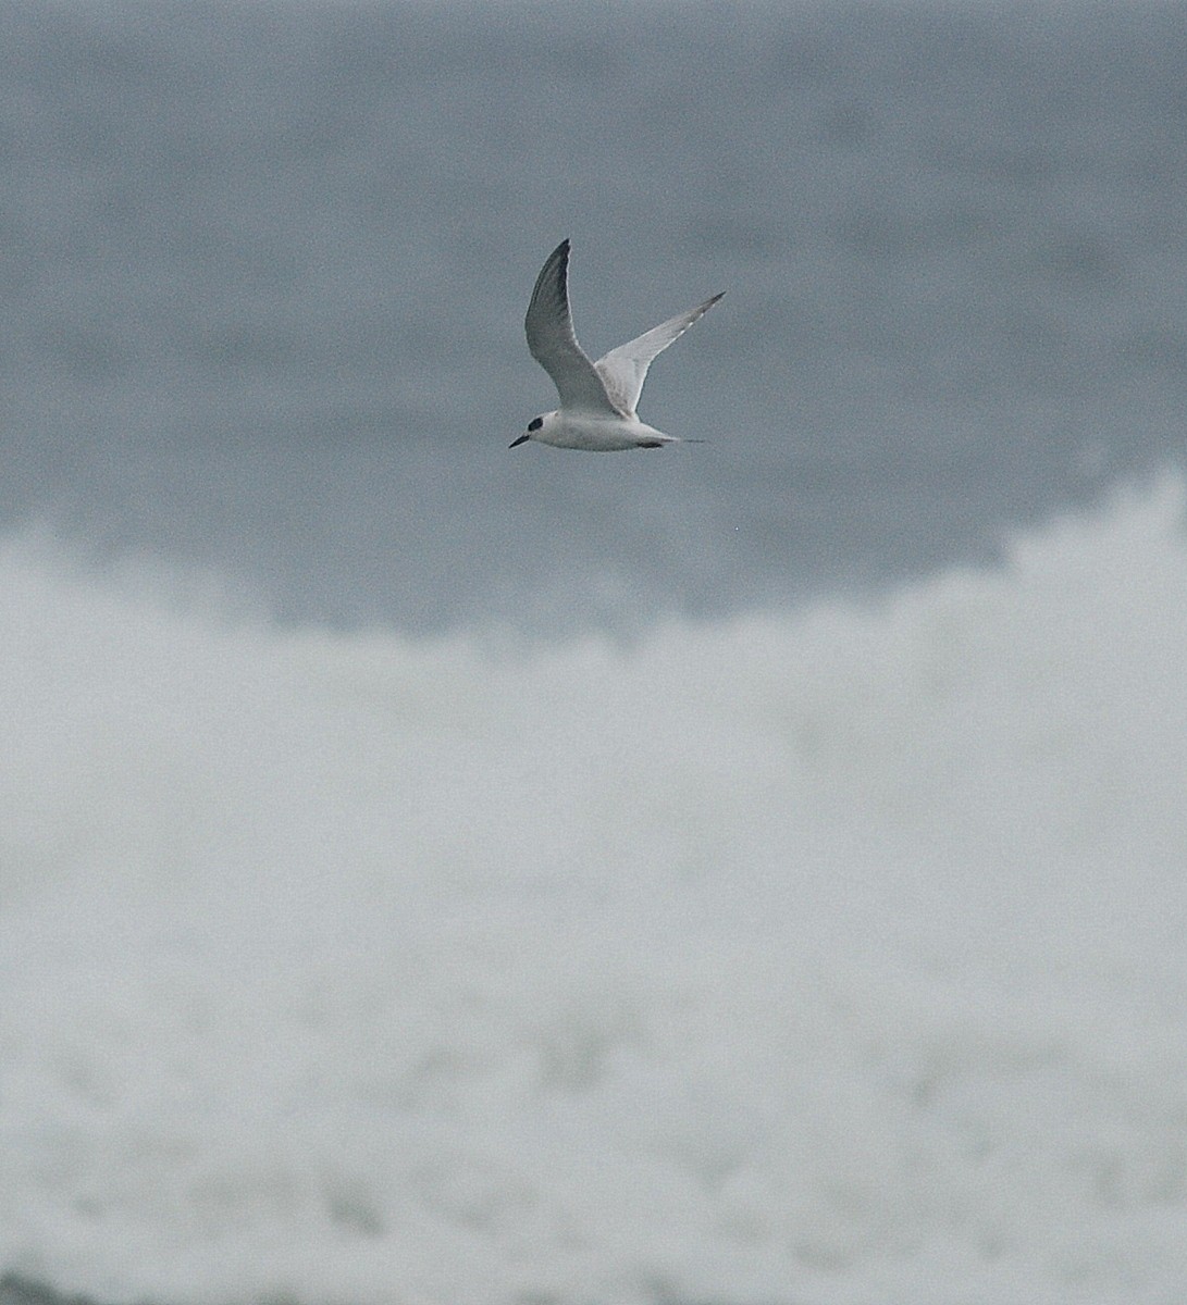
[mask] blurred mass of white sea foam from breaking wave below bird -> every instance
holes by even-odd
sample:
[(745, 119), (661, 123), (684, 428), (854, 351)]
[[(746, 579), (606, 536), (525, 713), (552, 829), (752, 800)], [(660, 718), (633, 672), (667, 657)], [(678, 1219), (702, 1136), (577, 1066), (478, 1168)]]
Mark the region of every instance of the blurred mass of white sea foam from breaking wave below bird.
[(0, 555), (0, 1265), (116, 1300), (1169, 1301), (1187, 543), (511, 650)]

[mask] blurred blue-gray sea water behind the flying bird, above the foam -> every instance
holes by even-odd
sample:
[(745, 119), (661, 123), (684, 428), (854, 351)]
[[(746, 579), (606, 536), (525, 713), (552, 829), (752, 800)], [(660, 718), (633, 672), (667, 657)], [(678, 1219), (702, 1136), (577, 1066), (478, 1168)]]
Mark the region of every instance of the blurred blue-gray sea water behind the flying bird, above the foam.
[[(1182, 5), (5, 4), (0, 526), (287, 620), (783, 606), (1183, 461)], [(726, 290), (642, 415), (554, 403)]]

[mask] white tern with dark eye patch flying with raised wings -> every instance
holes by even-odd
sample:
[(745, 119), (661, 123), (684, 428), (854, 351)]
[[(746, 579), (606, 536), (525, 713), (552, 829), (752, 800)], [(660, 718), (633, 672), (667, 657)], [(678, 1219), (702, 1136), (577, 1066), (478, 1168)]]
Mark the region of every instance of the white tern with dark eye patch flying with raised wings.
[[(548, 256), (535, 278), (524, 329), (531, 356), (552, 377), (560, 407), (543, 412), (511, 448), (535, 440), (558, 449), (611, 453), (679, 444), (640, 422), (635, 411), (652, 360), (703, 317), (721, 295), (669, 318), (592, 363), (573, 334), (568, 295), (569, 241)], [(723, 291), (722, 291), (723, 294)]]

